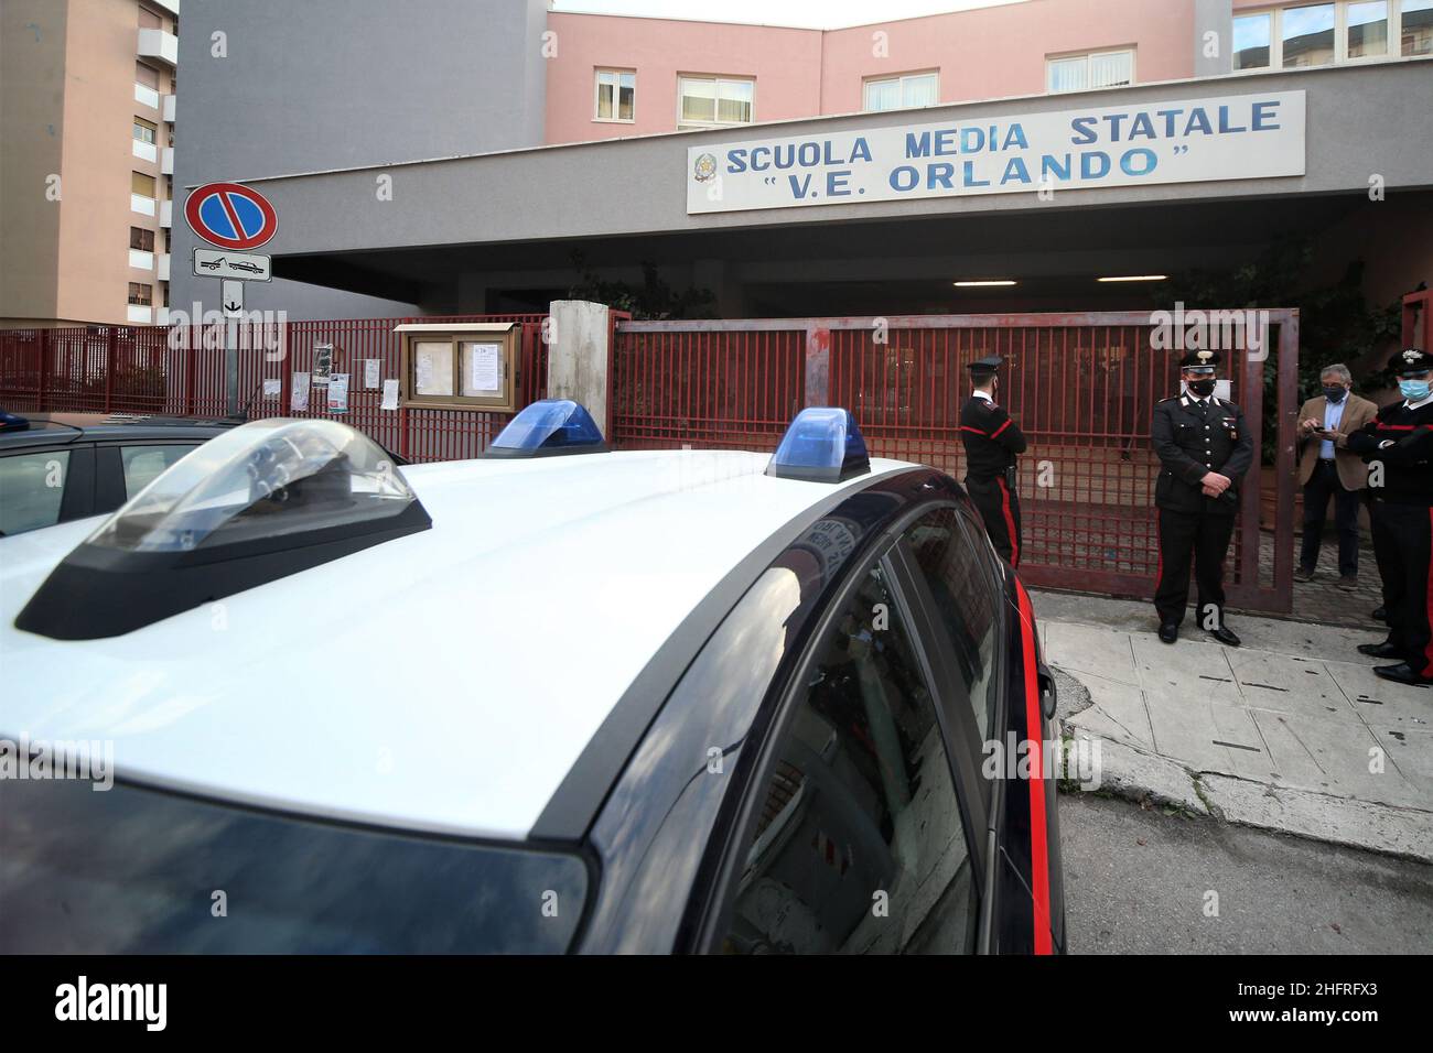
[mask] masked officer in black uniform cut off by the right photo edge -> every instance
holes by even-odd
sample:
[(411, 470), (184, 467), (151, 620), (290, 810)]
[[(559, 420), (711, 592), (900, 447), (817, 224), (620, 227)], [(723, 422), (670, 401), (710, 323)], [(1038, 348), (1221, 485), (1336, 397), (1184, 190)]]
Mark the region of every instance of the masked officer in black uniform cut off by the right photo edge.
[(1401, 659), (1374, 668), (1399, 683), (1433, 685), (1433, 355), (1416, 347), (1393, 355), (1401, 403), (1390, 403), (1346, 444), (1369, 463), (1373, 552), (1383, 576), (1389, 639), (1360, 643), (1373, 658)]

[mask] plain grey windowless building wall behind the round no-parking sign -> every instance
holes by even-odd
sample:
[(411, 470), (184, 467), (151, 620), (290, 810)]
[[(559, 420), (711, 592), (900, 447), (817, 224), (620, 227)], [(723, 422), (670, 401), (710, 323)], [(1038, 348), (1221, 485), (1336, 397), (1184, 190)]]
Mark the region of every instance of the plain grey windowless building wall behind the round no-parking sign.
[[(171, 305), (218, 304), (218, 282), (191, 274), (201, 242), (182, 218), (186, 188), (542, 143), (546, 10), (546, 0), (185, 0)], [(225, 57), (214, 54), (215, 33)], [(367, 203), (377, 203), (373, 176)], [(295, 219), (278, 209), (279, 236)], [(413, 311), (285, 281), (251, 282), (248, 308)]]

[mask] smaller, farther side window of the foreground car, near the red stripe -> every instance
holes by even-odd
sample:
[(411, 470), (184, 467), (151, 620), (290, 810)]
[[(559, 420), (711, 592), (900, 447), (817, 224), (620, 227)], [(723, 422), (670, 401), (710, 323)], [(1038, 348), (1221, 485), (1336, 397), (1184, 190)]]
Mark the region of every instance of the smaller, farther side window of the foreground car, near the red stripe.
[(984, 527), (979, 527), (980, 549), (963, 530), (954, 509), (937, 509), (919, 519), (906, 539), (910, 542), (950, 635), (956, 665), (976, 718), (980, 741), (990, 738), (999, 692), (1000, 596), (990, 574)]

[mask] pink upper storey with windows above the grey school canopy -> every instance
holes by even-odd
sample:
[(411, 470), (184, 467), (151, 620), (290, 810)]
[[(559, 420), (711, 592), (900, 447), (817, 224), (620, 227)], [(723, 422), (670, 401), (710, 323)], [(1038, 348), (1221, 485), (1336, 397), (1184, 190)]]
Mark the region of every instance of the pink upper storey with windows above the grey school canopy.
[(552, 11), (547, 27), (549, 143), (1433, 54), (1433, 0), (1025, 0), (834, 30)]

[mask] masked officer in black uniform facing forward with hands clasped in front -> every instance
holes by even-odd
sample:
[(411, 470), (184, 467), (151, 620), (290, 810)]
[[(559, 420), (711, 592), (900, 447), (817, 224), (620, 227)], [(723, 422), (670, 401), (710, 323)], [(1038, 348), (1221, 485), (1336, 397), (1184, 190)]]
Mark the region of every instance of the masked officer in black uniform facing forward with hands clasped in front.
[(1219, 643), (1240, 646), (1224, 623), (1224, 557), (1240, 510), (1240, 480), (1254, 463), (1254, 437), (1234, 403), (1214, 397), (1217, 351), (1191, 351), (1179, 360), (1185, 394), (1155, 404), (1151, 428), (1162, 470), (1155, 483), (1159, 507), (1159, 639), (1179, 639), (1189, 602), (1189, 556), (1199, 587), (1199, 625)]

